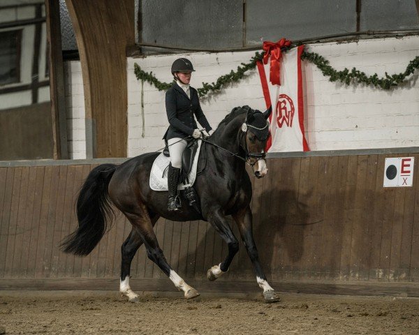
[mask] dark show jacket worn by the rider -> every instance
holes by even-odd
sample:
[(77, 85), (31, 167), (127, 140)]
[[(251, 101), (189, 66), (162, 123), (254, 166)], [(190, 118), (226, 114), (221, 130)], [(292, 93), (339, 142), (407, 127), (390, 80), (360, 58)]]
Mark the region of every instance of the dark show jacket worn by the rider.
[(166, 112), (170, 124), (165, 135), (166, 140), (192, 135), (193, 131), (198, 128), (193, 114), (207, 132), (212, 129), (200, 107), (198, 91), (193, 87), (189, 87), (189, 91), (190, 99), (177, 82), (173, 82), (172, 87), (166, 91)]

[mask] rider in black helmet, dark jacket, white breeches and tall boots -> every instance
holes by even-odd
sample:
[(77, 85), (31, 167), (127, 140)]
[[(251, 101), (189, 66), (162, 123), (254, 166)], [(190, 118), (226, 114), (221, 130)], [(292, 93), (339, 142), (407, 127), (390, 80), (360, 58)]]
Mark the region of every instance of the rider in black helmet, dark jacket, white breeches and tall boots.
[(193, 66), (186, 58), (176, 59), (172, 64), (174, 82), (166, 92), (166, 112), (168, 114), (169, 128), (166, 132), (166, 140), (169, 145), (170, 164), (168, 171), (169, 211), (177, 211), (181, 207), (177, 197), (180, 169), (182, 168), (182, 154), (188, 142), (185, 137), (200, 138), (196, 119), (205, 128), (208, 135), (214, 131), (200, 107), (198, 92), (189, 85)]

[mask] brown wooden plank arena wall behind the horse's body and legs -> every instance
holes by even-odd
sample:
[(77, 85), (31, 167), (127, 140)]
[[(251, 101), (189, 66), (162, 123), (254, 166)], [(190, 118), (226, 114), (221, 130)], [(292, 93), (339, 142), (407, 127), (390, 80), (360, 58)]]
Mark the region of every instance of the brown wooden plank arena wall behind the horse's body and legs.
[[(253, 230), (275, 288), (419, 296), (419, 149), (374, 152), (271, 155), (267, 176), (252, 178)], [(383, 188), (385, 158), (398, 156), (415, 157), (413, 187)], [(121, 214), (85, 258), (59, 244), (77, 226), (75, 196), (89, 171), (123, 161), (0, 163), (0, 290), (117, 290), (120, 247), (131, 230)], [(198, 290), (259, 290), (241, 243), (230, 271), (206, 280), (227, 252), (208, 223), (161, 219), (155, 230), (172, 268)], [(144, 246), (131, 275), (134, 290), (175, 290)]]

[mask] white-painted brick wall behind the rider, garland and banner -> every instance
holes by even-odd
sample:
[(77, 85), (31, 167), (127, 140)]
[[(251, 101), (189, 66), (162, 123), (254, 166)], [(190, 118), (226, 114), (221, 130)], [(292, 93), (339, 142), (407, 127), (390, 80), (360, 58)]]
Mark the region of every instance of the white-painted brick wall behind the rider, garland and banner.
[[(367, 75), (383, 76), (403, 72), (407, 64), (419, 55), (419, 36), (360, 40), (358, 43), (322, 43), (307, 45), (307, 51), (317, 52), (342, 70), (356, 67)], [(141, 110), (141, 82), (135, 78), (134, 63), (152, 71), (162, 82), (170, 82), (170, 66), (178, 57), (193, 62), (196, 72), (191, 84), (213, 82), (220, 75), (247, 63), (254, 52), (193, 53), (158, 55), (143, 59), (128, 58), (128, 156), (154, 151), (163, 146), (161, 137), (168, 127), (164, 105), (165, 93), (144, 83), (144, 116)], [(305, 78), (305, 128), (311, 150), (367, 149), (419, 146), (419, 83), (418, 71), (409, 84), (390, 91), (329, 82), (314, 64), (302, 62)], [(70, 62), (67, 80), (69, 131), (74, 120), (84, 117), (80, 63)], [(68, 88), (67, 87), (67, 88)], [(72, 96), (75, 95), (75, 96)], [(81, 100), (80, 100), (81, 99)], [(241, 82), (231, 84), (219, 94), (201, 99), (201, 105), (213, 127), (226, 113), (239, 105), (265, 107), (260, 80), (256, 70)], [(143, 124), (142, 119), (145, 119)], [(78, 125), (80, 126), (80, 125)], [(145, 136), (142, 137), (142, 129)], [(84, 130), (84, 122), (78, 131)], [(85, 136), (75, 133), (73, 142), (82, 142)], [(70, 140), (69, 142), (71, 142)], [(73, 147), (79, 147), (73, 145)], [(73, 155), (85, 155), (73, 150)], [(74, 156), (75, 158), (75, 156)]]

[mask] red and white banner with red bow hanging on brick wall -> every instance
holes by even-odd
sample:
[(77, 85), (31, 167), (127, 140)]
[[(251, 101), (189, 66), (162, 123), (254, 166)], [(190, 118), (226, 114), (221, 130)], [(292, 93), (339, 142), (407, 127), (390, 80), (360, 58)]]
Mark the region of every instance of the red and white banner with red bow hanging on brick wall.
[(272, 105), (267, 151), (309, 151), (304, 136), (302, 96), (301, 54), (304, 45), (282, 53), (284, 41), (283, 38), (278, 43), (265, 42), (263, 64), (260, 61), (257, 64), (266, 107)]

